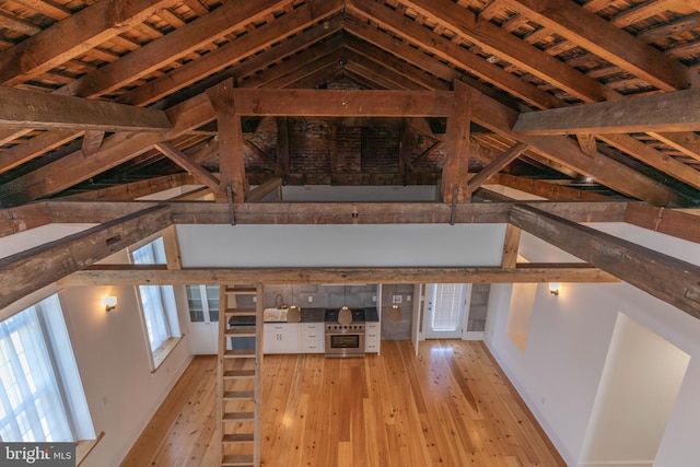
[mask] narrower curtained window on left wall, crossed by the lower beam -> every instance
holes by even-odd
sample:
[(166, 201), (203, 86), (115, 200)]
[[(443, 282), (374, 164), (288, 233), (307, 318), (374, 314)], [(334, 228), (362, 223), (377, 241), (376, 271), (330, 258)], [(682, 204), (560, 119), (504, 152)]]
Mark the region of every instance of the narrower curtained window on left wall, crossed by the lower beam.
[[(131, 258), (137, 265), (164, 265), (163, 238), (135, 249)], [(139, 285), (139, 296), (155, 370), (180, 337), (175, 293), (172, 285)]]

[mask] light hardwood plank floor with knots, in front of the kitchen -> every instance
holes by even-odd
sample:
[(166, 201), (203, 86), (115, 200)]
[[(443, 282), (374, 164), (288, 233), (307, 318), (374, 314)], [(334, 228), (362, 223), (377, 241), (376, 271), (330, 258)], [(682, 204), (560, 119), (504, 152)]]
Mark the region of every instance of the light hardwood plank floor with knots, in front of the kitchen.
[[(214, 466), (215, 358), (197, 357), (121, 466)], [(481, 342), (266, 355), (267, 467), (564, 466)]]

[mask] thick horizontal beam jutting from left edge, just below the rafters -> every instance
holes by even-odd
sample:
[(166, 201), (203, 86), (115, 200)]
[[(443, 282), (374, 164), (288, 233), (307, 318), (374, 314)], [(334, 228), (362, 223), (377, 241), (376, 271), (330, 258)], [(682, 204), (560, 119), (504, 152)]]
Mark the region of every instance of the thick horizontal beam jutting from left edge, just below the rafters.
[(163, 110), (0, 86), (0, 127), (95, 131), (164, 131)]

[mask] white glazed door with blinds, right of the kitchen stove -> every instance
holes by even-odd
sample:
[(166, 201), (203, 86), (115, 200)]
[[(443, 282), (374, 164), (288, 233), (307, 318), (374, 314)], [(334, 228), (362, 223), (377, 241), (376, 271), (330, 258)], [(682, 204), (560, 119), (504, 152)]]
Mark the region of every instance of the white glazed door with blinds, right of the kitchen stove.
[(469, 284), (429, 283), (424, 299), (425, 339), (460, 339)]

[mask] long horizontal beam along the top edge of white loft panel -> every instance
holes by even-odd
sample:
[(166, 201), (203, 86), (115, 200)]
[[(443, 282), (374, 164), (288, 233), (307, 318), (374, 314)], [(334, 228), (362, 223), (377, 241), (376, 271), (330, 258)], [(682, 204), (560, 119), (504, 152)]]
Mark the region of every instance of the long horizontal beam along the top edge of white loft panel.
[[(176, 224), (229, 224), (229, 206), (215, 202), (45, 201), (57, 223), (101, 223), (148, 207), (171, 207)], [(520, 201), (574, 222), (623, 222), (627, 201)], [(237, 224), (448, 224), (506, 223), (509, 202), (242, 202)], [(2, 212), (2, 211), (0, 211)], [(696, 222), (700, 222), (697, 219)], [(697, 225), (697, 224), (696, 224)]]

